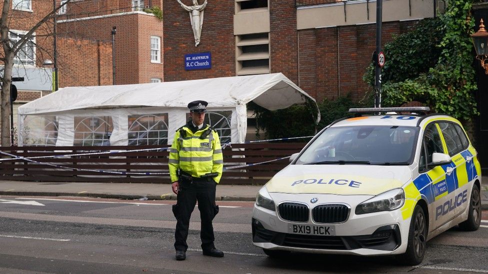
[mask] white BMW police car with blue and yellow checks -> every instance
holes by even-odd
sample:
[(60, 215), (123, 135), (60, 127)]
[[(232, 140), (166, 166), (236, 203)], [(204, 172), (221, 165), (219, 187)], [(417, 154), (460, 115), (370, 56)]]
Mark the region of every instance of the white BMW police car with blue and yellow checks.
[(259, 190), (253, 244), (271, 257), (395, 255), (417, 265), (429, 239), (477, 230), (476, 150), (458, 120), (428, 111), (350, 109), (355, 117), (321, 130)]

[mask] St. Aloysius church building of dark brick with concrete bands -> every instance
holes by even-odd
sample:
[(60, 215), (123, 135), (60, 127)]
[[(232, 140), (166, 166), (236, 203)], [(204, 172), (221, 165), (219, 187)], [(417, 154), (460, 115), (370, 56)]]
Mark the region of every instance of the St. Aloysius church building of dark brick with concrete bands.
[[(164, 79), (282, 72), (317, 100), (348, 93), (358, 100), (368, 88), (362, 73), (375, 48), (375, 4), (208, 0), (195, 47), (188, 12), (176, 0), (164, 0)], [(433, 0), (384, 0), (383, 43), (432, 16)], [(185, 70), (184, 55), (198, 52), (211, 53), (211, 68)]]

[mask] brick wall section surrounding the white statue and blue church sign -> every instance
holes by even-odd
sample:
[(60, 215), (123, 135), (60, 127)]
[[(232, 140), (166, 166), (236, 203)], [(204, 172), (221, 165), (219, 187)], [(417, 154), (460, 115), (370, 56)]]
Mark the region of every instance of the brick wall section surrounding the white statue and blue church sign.
[[(191, 0), (182, 0), (191, 5)], [(202, 0), (198, 2), (202, 3)], [(188, 11), (175, 0), (163, 1), (164, 20), (164, 80), (235, 76), (235, 38), (233, 35), (234, 2), (208, 1), (204, 9), (200, 44), (195, 47)], [(184, 55), (210, 52), (211, 69), (184, 70)]]

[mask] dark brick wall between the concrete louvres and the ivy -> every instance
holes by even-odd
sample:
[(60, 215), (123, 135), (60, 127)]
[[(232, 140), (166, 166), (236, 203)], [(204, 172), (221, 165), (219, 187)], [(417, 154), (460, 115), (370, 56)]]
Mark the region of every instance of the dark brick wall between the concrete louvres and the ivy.
[[(383, 22), (382, 44), (390, 42), (392, 34), (408, 31), (413, 23)], [(362, 75), (375, 50), (375, 24), (305, 29), (298, 36), (298, 83), (305, 92), (317, 101), (347, 94), (356, 101), (363, 98), (370, 88)]]

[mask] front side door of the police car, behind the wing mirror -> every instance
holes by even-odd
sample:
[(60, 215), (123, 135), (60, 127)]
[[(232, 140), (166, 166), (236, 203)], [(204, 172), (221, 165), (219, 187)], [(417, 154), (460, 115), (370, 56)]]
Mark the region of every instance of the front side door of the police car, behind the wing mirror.
[[(444, 211), (444, 204), (447, 202), (447, 183), (445, 180), (445, 170), (442, 166), (429, 166), (432, 162), (432, 154), (445, 153), (444, 144), (442, 143), (440, 130), (436, 123), (430, 123), (425, 127), (422, 144), (424, 160), (419, 159), (419, 176), (417, 179), (424, 184), (415, 184), (420, 193), (423, 194), (429, 202), (429, 230), (433, 231), (442, 226), (454, 217), (454, 212), (449, 212), (448, 208)], [(422, 155), (421, 155), (422, 156)], [(424, 163), (424, 164), (423, 164)], [(422, 165), (420, 165), (422, 164)]]

